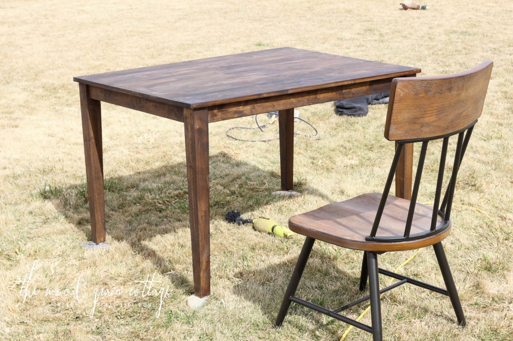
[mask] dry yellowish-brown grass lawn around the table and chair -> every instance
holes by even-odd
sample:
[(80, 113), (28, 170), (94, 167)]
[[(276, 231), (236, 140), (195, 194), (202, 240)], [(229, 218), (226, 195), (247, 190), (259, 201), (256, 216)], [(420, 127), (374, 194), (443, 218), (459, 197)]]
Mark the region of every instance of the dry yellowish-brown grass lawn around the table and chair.
[[(191, 311), (185, 304), (192, 270), (183, 127), (104, 105), (110, 247), (80, 246), (90, 232), (73, 76), (292, 46), (417, 66), (423, 75), (494, 60), (456, 200), (484, 209), (498, 223), (458, 207), (445, 242), (468, 326), (456, 326), (446, 297), (413, 286), (385, 295), (383, 323), (386, 339), (511, 339), (513, 6), (482, 0), (429, 5), (405, 12), (393, 1), (354, 0), (0, 3), (0, 338), (340, 338), (346, 325), (299, 307), (282, 328), (272, 328), (303, 239), (233, 227), (222, 216), (240, 208), (246, 217), (264, 214), (285, 223), (292, 214), (381, 190), (392, 153), (383, 138), (386, 106), (361, 119), (335, 116), (330, 103), (300, 108), (321, 139), (296, 138), (295, 180), (304, 196), (290, 200), (269, 195), (280, 183), (277, 141), (225, 137), (228, 127), (251, 126), (251, 117), (211, 125), (212, 295), (206, 307)], [(381, 264), (393, 269), (409, 255), (386, 254)], [(299, 294), (330, 307), (357, 297), (360, 257), (317, 244)], [(33, 285), (42, 292), (23, 302), (15, 281), (34, 264)], [(402, 271), (442, 285), (430, 249)], [(74, 289), (81, 273), (81, 302), (55, 291), (44, 295)], [(153, 273), (162, 281), (158, 286), (169, 286), (160, 317), (158, 297), (128, 294), (134, 281)], [(102, 287), (122, 294), (102, 297), (91, 318), (94, 289)], [(353, 330), (346, 340), (362, 338), (369, 335)]]

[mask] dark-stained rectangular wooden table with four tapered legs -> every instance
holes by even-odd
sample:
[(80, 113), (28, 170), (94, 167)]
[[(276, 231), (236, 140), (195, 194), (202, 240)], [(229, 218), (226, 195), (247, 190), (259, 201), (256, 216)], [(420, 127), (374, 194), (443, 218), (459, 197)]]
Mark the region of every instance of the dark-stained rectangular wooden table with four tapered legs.
[[(87, 190), (94, 243), (105, 241), (101, 102), (185, 126), (194, 293), (210, 294), (208, 123), (279, 111), (281, 187), (292, 189), (294, 108), (388, 91), (409, 68), (280, 48), (75, 77), (79, 83)], [(398, 168), (396, 195), (411, 192), (411, 148)]]

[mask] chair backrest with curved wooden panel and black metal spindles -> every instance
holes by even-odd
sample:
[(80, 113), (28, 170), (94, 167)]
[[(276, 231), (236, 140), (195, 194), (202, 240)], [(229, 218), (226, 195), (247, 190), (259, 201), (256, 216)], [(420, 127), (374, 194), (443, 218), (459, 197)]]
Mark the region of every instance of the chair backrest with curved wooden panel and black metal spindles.
[[(397, 148), (376, 219), (367, 240), (397, 242), (419, 239), (439, 233), (450, 226), (450, 211), (456, 178), (473, 126), (483, 111), (492, 66), (493, 62), (487, 60), (476, 68), (457, 74), (438, 77), (394, 78), (392, 80), (390, 103), (385, 124), (385, 138), (390, 141), (397, 141)], [(449, 137), (453, 135), (458, 135), (458, 142), (455, 159), (452, 163), (452, 173), (442, 199), (447, 147)], [(410, 235), (428, 142), (439, 139), (442, 139), (443, 142), (431, 225), (426, 232)], [(376, 233), (403, 146), (405, 143), (416, 142), (422, 143), (422, 147), (404, 235), (386, 238), (377, 237)], [(443, 218), (443, 223), (437, 225), (438, 216)]]

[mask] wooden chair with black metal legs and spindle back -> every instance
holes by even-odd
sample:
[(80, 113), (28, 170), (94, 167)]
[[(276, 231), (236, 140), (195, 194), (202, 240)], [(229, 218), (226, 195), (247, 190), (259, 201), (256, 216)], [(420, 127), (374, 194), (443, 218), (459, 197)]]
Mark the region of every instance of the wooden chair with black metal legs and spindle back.
[[(373, 340), (382, 340), (380, 293), (405, 283), (448, 295), (456, 312), (458, 324), (465, 325), (465, 316), (441, 241), (449, 235), (458, 169), (472, 129), (483, 110), (492, 65), (493, 63), (488, 60), (476, 68), (453, 75), (393, 79), (385, 138), (396, 141), (397, 148), (383, 194), (363, 194), (289, 219), (289, 228), (306, 236), (306, 240), (285, 292), (275, 326), (283, 323), (290, 303), (295, 302), (370, 332)], [(449, 137), (453, 135), (457, 135), (456, 152), (451, 174), (446, 176), (449, 178), (448, 186), (442, 196), (447, 148)], [(427, 146), (434, 140), (442, 140), (442, 146), (435, 198), (433, 205), (429, 206), (418, 203), (417, 195)], [(411, 200), (390, 196), (390, 186), (403, 146), (405, 143), (417, 142), (422, 146)], [(316, 239), (364, 251), (360, 290), (365, 289), (368, 276), (369, 296), (335, 310), (328, 310), (294, 296)], [(447, 289), (378, 268), (378, 254), (430, 245), (435, 249)], [(379, 273), (398, 279), (399, 282), (380, 290)], [(339, 314), (369, 299), (372, 326)]]

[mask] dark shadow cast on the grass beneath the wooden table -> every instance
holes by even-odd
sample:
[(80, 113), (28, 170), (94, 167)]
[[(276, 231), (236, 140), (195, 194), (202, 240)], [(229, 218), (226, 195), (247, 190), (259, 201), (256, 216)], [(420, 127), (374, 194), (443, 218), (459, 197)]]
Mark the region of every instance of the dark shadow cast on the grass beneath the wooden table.
[[(129, 176), (105, 177), (107, 235), (126, 242), (150, 260), (181, 290), (192, 283), (147, 243), (151, 238), (189, 227), (189, 203), (185, 162), (170, 164)], [(223, 219), (228, 210), (249, 212), (272, 202), (280, 187), (278, 172), (263, 169), (224, 153), (210, 156), (210, 219)], [(294, 184), (301, 191), (304, 184)], [(311, 189), (309, 190), (309, 192)], [(315, 192), (316, 195), (321, 193)], [(52, 187), (42, 196), (91, 240), (86, 183)], [(146, 245), (145, 245), (146, 244)], [(189, 251), (190, 252), (190, 251)]]

